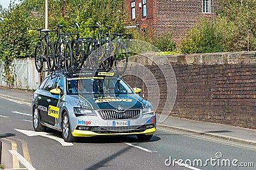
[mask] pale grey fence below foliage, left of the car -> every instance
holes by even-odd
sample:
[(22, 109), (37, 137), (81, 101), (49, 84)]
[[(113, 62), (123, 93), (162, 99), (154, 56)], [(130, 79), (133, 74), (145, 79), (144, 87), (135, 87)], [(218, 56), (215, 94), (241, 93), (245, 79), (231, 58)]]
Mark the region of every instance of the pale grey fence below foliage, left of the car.
[(4, 67), (1, 63), (0, 85), (17, 89), (34, 90), (40, 83), (40, 74), (36, 71), (34, 59), (14, 59), (12, 62), (14, 82), (13, 85), (6, 83)]

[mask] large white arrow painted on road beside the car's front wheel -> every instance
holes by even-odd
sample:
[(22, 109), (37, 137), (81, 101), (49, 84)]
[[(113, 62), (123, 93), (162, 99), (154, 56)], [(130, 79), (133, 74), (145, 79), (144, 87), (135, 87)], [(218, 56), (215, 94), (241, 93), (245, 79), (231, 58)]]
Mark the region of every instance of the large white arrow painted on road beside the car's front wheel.
[(14, 129), (15, 131), (21, 132), (23, 134), (26, 134), (27, 136), (44, 136), (45, 138), (54, 139), (55, 141), (58, 141), (62, 146), (73, 146), (73, 143), (67, 143), (62, 138), (58, 138), (56, 136), (51, 136), (51, 134), (47, 132), (35, 132), (35, 131), (27, 131), (27, 130), (21, 130), (21, 129)]

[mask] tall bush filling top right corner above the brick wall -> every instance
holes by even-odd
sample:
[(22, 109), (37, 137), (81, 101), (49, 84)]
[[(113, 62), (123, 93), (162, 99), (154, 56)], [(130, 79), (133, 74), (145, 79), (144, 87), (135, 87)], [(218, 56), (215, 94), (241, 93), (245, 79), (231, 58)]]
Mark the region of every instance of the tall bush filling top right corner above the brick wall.
[[(256, 1), (252, 0), (220, 0), (218, 13), (225, 17), (234, 30), (229, 32), (228, 50), (256, 50)], [(236, 27), (234, 27), (234, 25)]]

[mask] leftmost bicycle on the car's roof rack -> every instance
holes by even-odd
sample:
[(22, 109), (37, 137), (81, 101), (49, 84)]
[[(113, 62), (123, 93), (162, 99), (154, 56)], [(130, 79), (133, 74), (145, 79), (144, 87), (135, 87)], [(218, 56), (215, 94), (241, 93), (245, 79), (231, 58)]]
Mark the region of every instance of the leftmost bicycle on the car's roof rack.
[[(38, 29), (39, 31), (39, 42), (35, 47), (35, 66), (38, 73), (42, 72), (44, 62), (47, 62), (47, 69), (45, 71), (52, 71), (54, 69), (54, 48), (52, 43), (49, 41), (49, 29)], [(42, 36), (42, 33), (44, 36)], [(44, 42), (43, 42), (44, 39)]]

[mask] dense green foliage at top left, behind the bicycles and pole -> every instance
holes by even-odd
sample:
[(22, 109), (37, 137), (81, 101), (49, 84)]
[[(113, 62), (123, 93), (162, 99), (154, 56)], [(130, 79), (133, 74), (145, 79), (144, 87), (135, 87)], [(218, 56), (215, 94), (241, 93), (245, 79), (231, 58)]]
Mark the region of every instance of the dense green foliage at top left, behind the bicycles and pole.
[[(0, 6), (0, 59), (4, 64), (4, 78), (13, 84), (15, 71), (12, 60), (33, 57), (39, 32), (44, 29), (45, 0), (20, 0), (6, 9)], [(49, 29), (63, 25), (64, 32), (76, 32), (72, 25), (81, 24), (81, 36), (92, 36), (90, 25), (99, 22), (101, 29), (111, 25), (115, 32), (124, 32), (125, 15), (121, 0), (53, 0), (49, 1)], [(50, 33), (50, 41), (56, 40), (56, 33)]]

